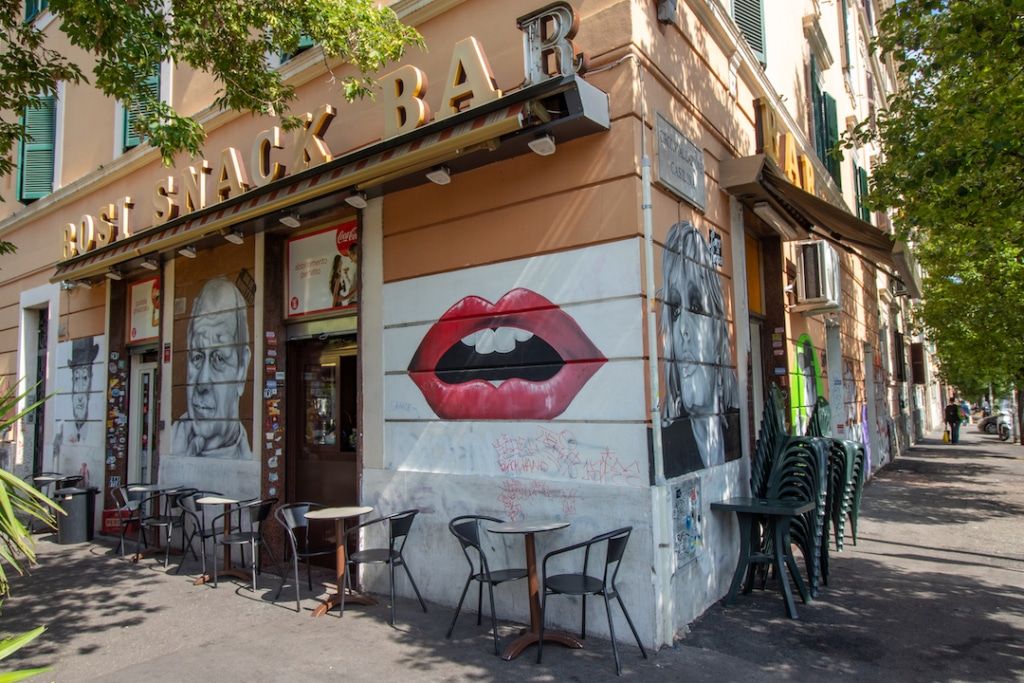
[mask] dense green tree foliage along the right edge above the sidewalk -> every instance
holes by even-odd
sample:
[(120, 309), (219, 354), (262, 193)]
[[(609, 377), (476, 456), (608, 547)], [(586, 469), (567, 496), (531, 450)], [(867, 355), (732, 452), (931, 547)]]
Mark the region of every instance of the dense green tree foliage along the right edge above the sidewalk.
[(1024, 0), (904, 0), (878, 45), (900, 88), (868, 203), (926, 270), (918, 321), (954, 384), (1024, 380)]

